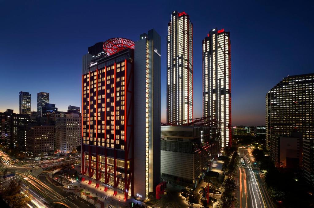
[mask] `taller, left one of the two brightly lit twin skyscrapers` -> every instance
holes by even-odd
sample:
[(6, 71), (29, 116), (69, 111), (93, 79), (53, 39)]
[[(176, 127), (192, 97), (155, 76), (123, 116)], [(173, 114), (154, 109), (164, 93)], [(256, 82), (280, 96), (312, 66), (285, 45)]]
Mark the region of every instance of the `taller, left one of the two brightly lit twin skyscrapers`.
[(193, 24), (174, 11), (167, 36), (167, 123), (193, 118)]

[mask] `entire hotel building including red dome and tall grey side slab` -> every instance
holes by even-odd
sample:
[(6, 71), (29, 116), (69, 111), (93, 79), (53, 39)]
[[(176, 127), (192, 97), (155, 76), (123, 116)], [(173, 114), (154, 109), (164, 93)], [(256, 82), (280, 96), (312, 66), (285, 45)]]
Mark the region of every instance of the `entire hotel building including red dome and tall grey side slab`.
[(160, 182), (160, 36), (98, 46), (83, 56), (82, 173), (145, 199)]

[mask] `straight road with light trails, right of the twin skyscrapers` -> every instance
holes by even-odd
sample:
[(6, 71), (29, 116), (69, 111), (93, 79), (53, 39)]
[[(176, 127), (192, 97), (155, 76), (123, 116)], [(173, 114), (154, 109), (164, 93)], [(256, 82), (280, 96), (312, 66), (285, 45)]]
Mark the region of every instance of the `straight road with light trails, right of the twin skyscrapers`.
[(239, 148), (240, 157), (245, 165), (238, 169), (237, 199), (240, 208), (272, 208), (275, 207), (268, 195), (264, 177), (252, 164), (253, 157), (250, 148)]

